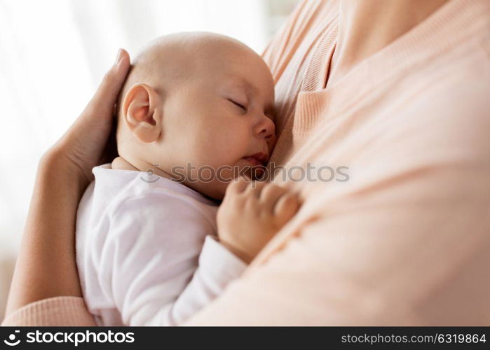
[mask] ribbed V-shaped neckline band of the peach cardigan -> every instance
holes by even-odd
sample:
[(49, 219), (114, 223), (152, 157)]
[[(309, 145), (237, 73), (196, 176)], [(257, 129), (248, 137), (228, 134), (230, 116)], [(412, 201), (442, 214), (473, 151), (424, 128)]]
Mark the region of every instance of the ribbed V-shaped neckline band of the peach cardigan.
[[(329, 63), (334, 52), (338, 23), (322, 33), (322, 38), (299, 92), (299, 104), (331, 104), (329, 111), (341, 113), (370, 91), (393, 76), (408, 71), (417, 62), (430, 59), (471, 34), (490, 34), (489, 0), (451, 0), (416, 27), (407, 31), (385, 48), (368, 57), (343, 76), (336, 85), (324, 89)], [(331, 95), (335, 95), (335, 99)], [(302, 100), (302, 101), (301, 101)]]

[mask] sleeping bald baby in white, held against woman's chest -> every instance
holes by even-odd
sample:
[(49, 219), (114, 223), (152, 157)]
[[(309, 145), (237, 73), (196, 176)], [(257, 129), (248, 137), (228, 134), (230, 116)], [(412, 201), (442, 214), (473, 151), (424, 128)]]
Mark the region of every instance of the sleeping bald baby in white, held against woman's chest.
[(294, 216), (292, 193), (244, 180), (275, 144), (273, 103), (268, 66), (232, 38), (172, 34), (142, 50), (117, 106), (119, 157), (93, 169), (77, 216), (99, 325), (184, 322)]

